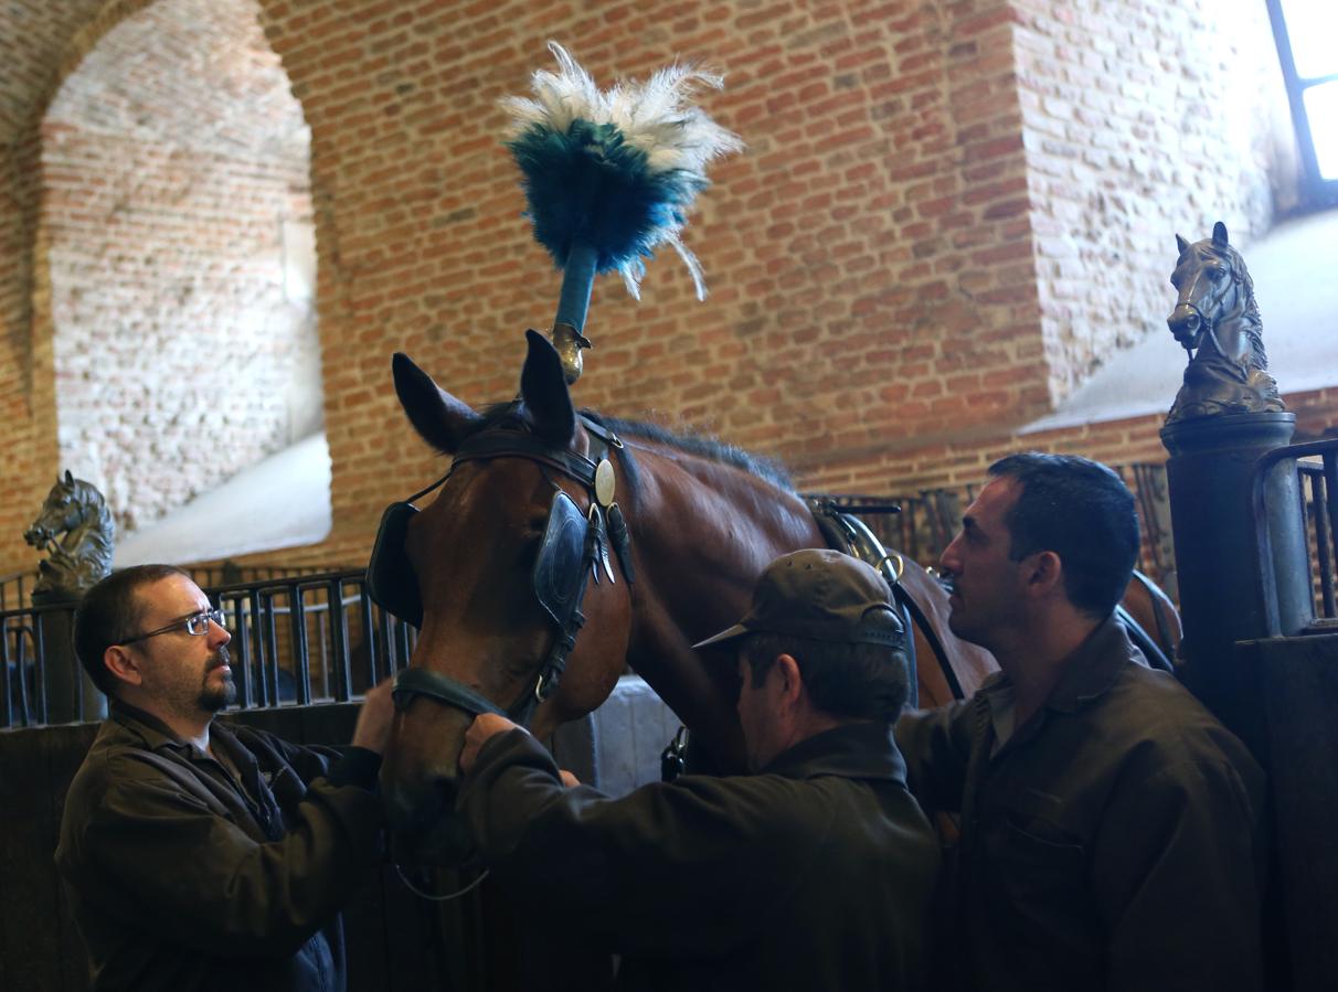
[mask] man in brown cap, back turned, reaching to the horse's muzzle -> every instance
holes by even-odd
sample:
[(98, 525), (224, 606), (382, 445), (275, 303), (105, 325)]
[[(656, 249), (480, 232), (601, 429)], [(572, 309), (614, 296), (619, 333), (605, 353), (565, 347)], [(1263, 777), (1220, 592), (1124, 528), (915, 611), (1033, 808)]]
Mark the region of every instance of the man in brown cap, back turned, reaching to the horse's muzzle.
[(864, 563), (799, 551), (697, 646), (732, 648), (749, 775), (613, 799), (478, 717), (458, 806), (484, 861), (537, 918), (619, 955), (619, 988), (923, 988), (938, 845), (891, 737), (909, 686), (890, 599)]

